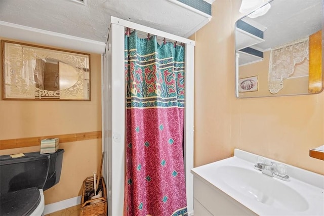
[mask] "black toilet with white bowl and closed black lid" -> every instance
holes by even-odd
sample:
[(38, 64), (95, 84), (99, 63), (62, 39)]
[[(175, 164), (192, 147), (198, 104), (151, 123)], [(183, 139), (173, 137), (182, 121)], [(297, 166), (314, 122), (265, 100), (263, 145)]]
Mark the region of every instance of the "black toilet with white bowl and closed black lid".
[(60, 181), (63, 149), (0, 156), (0, 215), (44, 215), (43, 191)]

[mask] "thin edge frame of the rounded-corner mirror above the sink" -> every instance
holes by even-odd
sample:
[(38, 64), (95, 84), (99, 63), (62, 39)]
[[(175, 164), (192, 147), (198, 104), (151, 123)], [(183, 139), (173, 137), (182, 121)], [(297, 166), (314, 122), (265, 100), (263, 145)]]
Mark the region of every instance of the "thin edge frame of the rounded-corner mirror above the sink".
[[(297, 95), (315, 95), (315, 94), (319, 94), (321, 92), (324, 91), (324, 0), (321, 1), (321, 8), (322, 8), (322, 16), (321, 16), (321, 82), (322, 82), (322, 88), (319, 92), (316, 93), (301, 93), (301, 94), (286, 94), (286, 95), (261, 95), (261, 96), (251, 96), (251, 97), (239, 97), (239, 73), (238, 73), (238, 53), (236, 50), (236, 41), (237, 41), (237, 35), (236, 35), (236, 28), (237, 28), (237, 22), (239, 20), (244, 19), (245, 17), (247, 17), (248, 15), (252, 14), (253, 12), (255, 12), (256, 10), (258, 10), (259, 8), (262, 8), (263, 6), (265, 6), (266, 4), (270, 4), (273, 1), (278, 1), (278, 0), (269, 0), (269, 2), (265, 3), (264, 5), (259, 6), (258, 8), (256, 8), (254, 11), (252, 11), (249, 14), (246, 14), (245, 16), (242, 16), (240, 18), (238, 18), (234, 24), (234, 56), (235, 56), (235, 97), (238, 99), (244, 99), (244, 98), (264, 98), (264, 97), (282, 97), (282, 96), (297, 96)], [(271, 10), (271, 9), (270, 9)]]

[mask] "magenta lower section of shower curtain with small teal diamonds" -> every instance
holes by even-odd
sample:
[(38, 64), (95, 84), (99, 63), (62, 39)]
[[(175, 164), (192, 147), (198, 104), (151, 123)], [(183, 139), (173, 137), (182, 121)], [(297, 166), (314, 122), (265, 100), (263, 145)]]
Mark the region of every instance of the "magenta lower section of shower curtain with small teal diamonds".
[(127, 215), (184, 215), (183, 116), (177, 107), (127, 110)]

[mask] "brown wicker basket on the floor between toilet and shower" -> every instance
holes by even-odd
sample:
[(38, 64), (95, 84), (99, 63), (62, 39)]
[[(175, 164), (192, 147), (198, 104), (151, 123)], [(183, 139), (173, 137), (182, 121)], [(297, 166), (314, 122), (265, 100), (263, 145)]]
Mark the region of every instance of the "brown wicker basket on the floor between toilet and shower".
[[(97, 216), (107, 215), (107, 191), (103, 178), (100, 178), (99, 189), (102, 191), (102, 197), (90, 200), (88, 194), (93, 193), (93, 177), (88, 177), (83, 182), (82, 200), (80, 207), (80, 216)], [(99, 201), (95, 204), (91, 204), (92, 201)]]

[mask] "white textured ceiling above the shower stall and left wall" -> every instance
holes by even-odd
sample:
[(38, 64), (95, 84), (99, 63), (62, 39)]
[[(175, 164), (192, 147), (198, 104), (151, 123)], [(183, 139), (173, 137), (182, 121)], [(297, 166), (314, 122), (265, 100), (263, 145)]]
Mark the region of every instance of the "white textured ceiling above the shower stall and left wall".
[(0, 1), (1, 21), (101, 42), (110, 16), (185, 37), (207, 19), (167, 0)]

